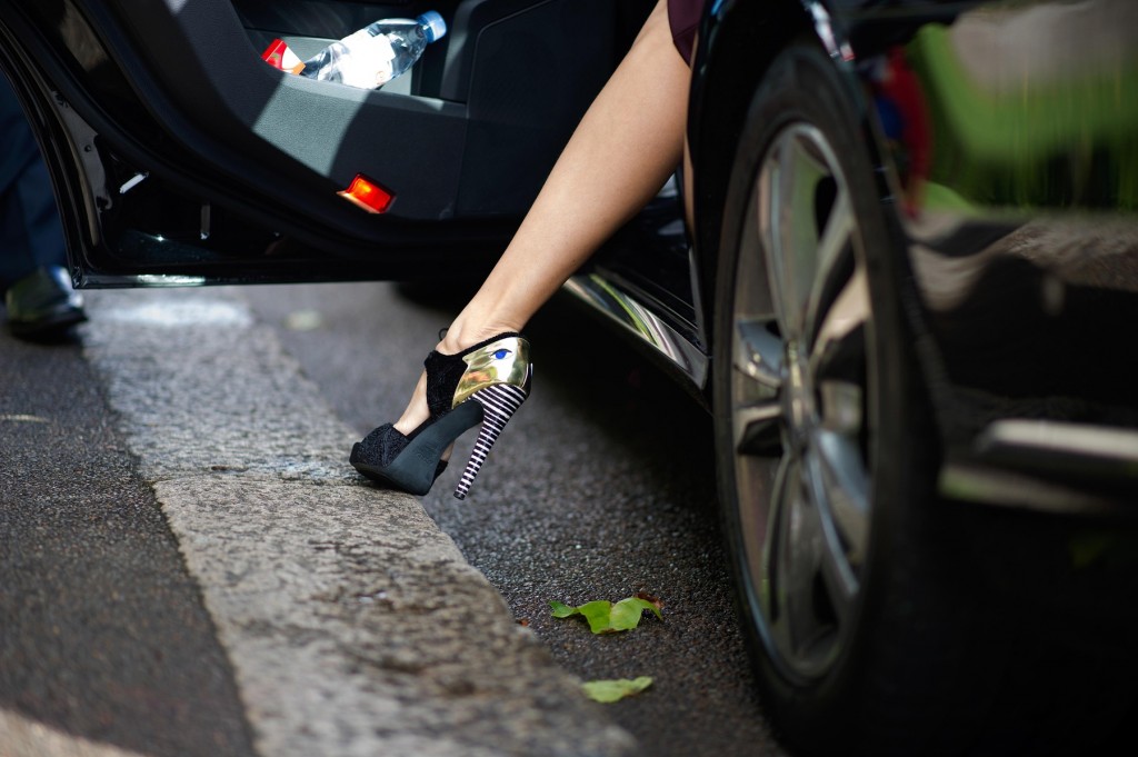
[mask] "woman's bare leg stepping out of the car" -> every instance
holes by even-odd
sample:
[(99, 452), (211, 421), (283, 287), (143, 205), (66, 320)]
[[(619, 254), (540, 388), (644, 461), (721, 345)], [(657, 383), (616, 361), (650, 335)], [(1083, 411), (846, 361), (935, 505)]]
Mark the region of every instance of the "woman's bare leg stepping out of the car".
[[(691, 75), (676, 51), (667, 1), (659, 0), (628, 55), (589, 106), (502, 257), (437, 349), (454, 354), (537, 310), (679, 164)], [(395, 423), (427, 420), (426, 375)]]

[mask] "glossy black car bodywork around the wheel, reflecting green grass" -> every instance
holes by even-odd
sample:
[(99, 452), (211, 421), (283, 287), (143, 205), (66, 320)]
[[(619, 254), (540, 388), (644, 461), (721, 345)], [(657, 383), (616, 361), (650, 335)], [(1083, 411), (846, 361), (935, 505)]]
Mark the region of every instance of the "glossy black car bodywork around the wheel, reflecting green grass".
[[(1138, 121), (1125, 97), (1114, 99), (1138, 87), (1125, 52), (1138, 38), (1132, 8), (873, 5), (709, 3), (693, 66), (686, 196), (708, 344), (733, 165), (725, 146), (739, 140), (770, 61), (808, 40), (841, 72), (876, 166), (890, 273), (938, 429), (927, 443), (941, 450), (940, 492), (1132, 513), (1138, 375), (1116, 335), (1138, 316)], [(1094, 36), (1072, 41), (1062, 54), (1077, 73), (1046, 71), (1031, 34), (1063, 40), (1080, 23), (1110, 38), (1113, 52), (1096, 51)], [(993, 44), (997, 34), (1011, 42)], [(997, 82), (1009, 72), (1016, 93)], [(885, 123), (906, 116), (920, 123)]]

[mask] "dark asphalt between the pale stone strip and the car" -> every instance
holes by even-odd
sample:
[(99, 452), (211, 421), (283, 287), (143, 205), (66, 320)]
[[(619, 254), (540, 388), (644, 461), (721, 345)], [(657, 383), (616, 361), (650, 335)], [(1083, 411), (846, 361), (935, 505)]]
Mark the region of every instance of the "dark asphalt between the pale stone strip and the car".
[[(460, 294), (312, 285), (242, 290), (361, 435), (394, 420)], [(708, 413), (568, 301), (527, 329), (534, 393), (470, 496), (448, 470), (423, 499), (467, 559), (582, 678), (649, 675), (611, 705), (653, 755), (782, 754), (762, 721), (720, 546)], [(467, 437), (472, 437), (468, 434)], [(463, 437), (454, 460), (464, 460)], [(346, 451), (345, 451), (346, 452)], [(660, 598), (630, 633), (593, 635), (549, 602)]]

